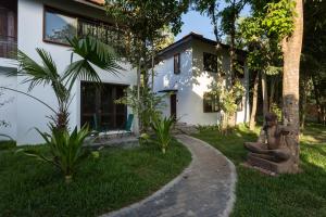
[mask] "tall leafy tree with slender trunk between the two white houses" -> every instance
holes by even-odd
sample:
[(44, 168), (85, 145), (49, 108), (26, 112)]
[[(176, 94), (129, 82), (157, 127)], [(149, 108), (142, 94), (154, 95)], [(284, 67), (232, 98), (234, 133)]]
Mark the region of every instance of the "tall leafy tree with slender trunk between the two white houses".
[(166, 37), (162, 34), (164, 27), (170, 26), (173, 34), (179, 33), (180, 16), (188, 10), (189, 0), (105, 0), (105, 7), (108, 14), (114, 17), (117, 25), (123, 25), (128, 35), (126, 58), (137, 68), (137, 100), (142, 104), (141, 73), (142, 85), (149, 89), (151, 47), (161, 37)]

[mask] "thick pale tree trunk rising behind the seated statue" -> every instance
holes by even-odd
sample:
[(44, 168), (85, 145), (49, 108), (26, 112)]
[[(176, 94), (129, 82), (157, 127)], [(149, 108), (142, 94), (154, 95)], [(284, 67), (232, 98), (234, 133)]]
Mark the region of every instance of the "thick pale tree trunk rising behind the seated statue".
[(296, 0), (296, 15), (293, 15), (293, 33), (283, 40), (284, 79), (283, 79), (283, 119), (284, 125), (293, 128), (291, 151), (293, 156), (292, 171), (299, 170), (299, 73), (300, 55), (303, 36), (303, 5), (302, 0)]

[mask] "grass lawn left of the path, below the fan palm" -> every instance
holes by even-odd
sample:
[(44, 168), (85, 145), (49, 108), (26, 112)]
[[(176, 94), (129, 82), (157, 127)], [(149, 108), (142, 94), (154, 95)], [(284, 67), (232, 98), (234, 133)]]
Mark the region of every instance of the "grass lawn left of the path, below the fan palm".
[(0, 216), (98, 216), (148, 196), (191, 161), (176, 141), (165, 155), (154, 144), (104, 149), (65, 184), (51, 165), (14, 152), (0, 151)]

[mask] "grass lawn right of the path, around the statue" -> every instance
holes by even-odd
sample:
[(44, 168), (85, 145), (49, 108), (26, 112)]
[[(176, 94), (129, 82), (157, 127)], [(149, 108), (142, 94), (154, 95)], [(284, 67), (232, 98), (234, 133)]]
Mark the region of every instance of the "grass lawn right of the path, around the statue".
[(244, 141), (255, 141), (256, 133), (239, 127), (223, 137), (203, 130), (202, 139), (229, 157), (237, 167), (237, 200), (233, 216), (326, 216), (326, 128), (309, 125), (301, 137), (301, 168), (298, 175), (268, 177), (244, 168)]

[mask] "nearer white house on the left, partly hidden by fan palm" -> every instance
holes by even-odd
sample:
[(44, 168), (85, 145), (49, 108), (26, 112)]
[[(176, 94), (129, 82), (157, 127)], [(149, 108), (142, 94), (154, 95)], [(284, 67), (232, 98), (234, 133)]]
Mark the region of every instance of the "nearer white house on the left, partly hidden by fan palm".
[[(102, 40), (110, 40), (114, 27), (98, 2), (101, 0), (4, 0), (0, 1), (0, 86), (27, 92), (28, 84), (22, 84), (22, 77), (7, 77), (5, 73), (15, 69), (15, 61), (10, 51), (20, 49), (32, 59), (39, 61), (36, 48), (43, 48), (52, 54), (60, 72), (71, 62), (70, 47), (65, 37), (93, 34)], [(92, 123), (96, 115), (99, 125), (105, 129), (122, 128), (130, 112), (124, 105), (115, 105), (114, 99), (123, 94), (123, 88), (136, 85), (136, 72), (129, 64), (121, 63), (126, 69), (118, 76), (99, 69), (105, 82), (100, 91), (92, 84), (78, 80), (75, 95), (70, 106), (71, 127)], [(57, 101), (50, 87), (38, 86), (32, 95), (55, 107)], [(47, 116), (51, 115), (46, 106), (21, 93), (4, 91), (0, 98), (9, 101), (0, 106), (0, 119), (10, 123), (0, 128), (17, 141), (17, 144), (42, 142), (34, 127), (48, 130)], [(1, 140), (1, 138), (0, 138)]]

